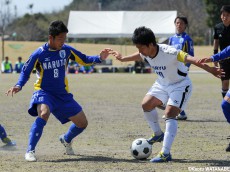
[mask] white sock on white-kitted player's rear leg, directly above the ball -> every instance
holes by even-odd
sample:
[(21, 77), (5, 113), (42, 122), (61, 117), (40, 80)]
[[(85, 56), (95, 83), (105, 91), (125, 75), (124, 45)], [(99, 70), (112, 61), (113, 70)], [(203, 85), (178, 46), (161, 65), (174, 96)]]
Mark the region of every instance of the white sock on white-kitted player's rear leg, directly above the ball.
[(146, 121), (148, 122), (150, 128), (153, 130), (154, 135), (159, 136), (162, 134), (162, 130), (160, 128), (159, 122), (158, 122), (158, 114), (156, 109), (153, 109), (150, 112), (144, 112), (144, 116)]

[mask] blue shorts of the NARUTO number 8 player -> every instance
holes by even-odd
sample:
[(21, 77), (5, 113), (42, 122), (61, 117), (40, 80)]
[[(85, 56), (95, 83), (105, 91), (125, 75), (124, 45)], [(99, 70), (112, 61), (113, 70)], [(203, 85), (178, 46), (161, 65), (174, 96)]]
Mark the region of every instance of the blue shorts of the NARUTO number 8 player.
[(69, 122), (69, 117), (82, 111), (82, 107), (73, 99), (71, 93), (54, 95), (44, 90), (34, 92), (28, 110), (30, 115), (38, 116), (37, 104), (48, 105), (50, 112), (62, 124)]

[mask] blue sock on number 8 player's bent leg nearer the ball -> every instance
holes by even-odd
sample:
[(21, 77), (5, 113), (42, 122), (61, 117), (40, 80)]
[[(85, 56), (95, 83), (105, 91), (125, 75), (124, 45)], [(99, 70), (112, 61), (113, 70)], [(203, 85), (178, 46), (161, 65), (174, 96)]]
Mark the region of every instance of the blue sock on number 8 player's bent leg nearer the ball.
[(78, 128), (75, 124), (71, 124), (69, 130), (64, 135), (64, 139), (67, 143), (70, 143), (74, 137), (81, 134), (85, 128)]

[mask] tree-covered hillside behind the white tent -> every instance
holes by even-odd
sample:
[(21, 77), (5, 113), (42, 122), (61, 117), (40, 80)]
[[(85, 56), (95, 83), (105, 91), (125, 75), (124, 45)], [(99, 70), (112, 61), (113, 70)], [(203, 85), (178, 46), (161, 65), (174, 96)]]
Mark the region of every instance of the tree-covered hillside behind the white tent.
[[(10, 1), (1, 8), (10, 8)], [(9, 35), (9, 39), (18, 41), (46, 41), (47, 27), (52, 20), (63, 20), (68, 23), (70, 10), (75, 11), (168, 11), (177, 10), (178, 15), (188, 18), (187, 32), (191, 35), (195, 45), (210, 44), (212, 28), (220, 22), (220, 8), (229, 4), (229, 0), (73, 0), (61, 11), (50, 13), (27, 13), (22, 17), (14, 17), (13, 11), (0, 13), (0, 31)], [(32, 11), (33, 4), (30, 4)], [(1, 9), (1, 11), (4, 11)], [(9, 18), (11, 16), (11, 19)], [(7, 22), (6, 22), (7, 21)], [(172, 21), (173, 24), (173, 21)], [(82, 42), (120, 43), (119, 40), (81, 39)], [(125, 42), (129, 43), (127, 39)]]

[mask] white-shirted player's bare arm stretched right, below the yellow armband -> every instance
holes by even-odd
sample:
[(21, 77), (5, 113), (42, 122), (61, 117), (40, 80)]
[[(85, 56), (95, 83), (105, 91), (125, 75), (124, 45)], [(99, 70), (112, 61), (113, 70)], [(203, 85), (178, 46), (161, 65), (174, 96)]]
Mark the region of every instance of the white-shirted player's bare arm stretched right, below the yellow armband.
[[(218, 67), (211, 67), (211, 66), (205, 64), (204, 62), (201, 63), (201, 61), (202, 60), (199, 61), (198, 58), (192, 57), (192, 56), (189, 56), (189, 55), (187, 55), (186, 58), (185, 58), (186, 63), (194, 64), (194, 65), (198, 66), (199, 68), (202, 68), (202, 69), (206, 70), (207, 72), (213, 74), (217, 78), (221, 78), (221, 77), (223, 77), (225, 75), (225, 72), (222, 69), (220, 69)], [(206, 58), (203, 61), (208, 62), (209, 59)]]

